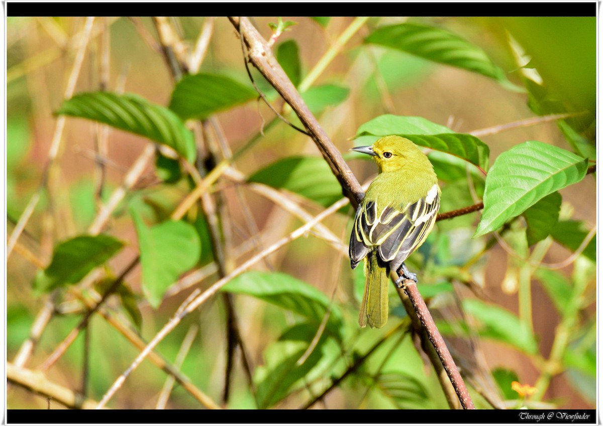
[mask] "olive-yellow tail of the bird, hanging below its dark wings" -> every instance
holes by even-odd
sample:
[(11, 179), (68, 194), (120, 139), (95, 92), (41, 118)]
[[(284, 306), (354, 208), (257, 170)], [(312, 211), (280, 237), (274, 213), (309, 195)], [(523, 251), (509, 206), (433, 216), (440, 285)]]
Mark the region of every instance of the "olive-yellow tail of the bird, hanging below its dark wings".
[(364, 276), (367, 277), (367, 282), (364, 285), (358, 324), (361, 327), (368, 324), (373, 329), (380, 329), (387, 323), (390, 268), (379, 259), (377, 250), (368, 253), (364, 261)]

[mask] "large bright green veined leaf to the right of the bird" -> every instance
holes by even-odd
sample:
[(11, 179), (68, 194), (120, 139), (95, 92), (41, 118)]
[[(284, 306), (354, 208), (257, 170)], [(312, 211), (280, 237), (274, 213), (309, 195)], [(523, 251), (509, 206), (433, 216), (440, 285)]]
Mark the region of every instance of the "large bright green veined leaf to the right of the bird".
[(588, 160), (538, 141), (516, 145), (498, 156), (486, 177), (484, 212), (476, 236), (498, 229), (586, 174)]

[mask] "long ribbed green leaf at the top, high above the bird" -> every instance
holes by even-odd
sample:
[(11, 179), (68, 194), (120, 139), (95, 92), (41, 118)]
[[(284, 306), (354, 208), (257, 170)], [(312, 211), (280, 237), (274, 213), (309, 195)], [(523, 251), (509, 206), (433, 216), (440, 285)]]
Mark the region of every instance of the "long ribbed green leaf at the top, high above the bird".
[(481, 48), (440, 28), (416, 23), (382, 26), (373, 31), (364, 42), (476, 72), (493, 78), (511, 90), (520, 90), (508, 81), (505, 72), (497, 67)]

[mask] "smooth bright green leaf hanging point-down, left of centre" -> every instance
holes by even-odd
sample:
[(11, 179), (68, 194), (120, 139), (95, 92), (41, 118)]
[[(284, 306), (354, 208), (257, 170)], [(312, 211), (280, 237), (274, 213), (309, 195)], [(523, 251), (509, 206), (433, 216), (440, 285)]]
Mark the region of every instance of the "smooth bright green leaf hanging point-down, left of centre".
[(142, 267), (142, 289), (153, 307), (181, 274), (194, 267), (201, 255), (199, 236), (194, 226), (169, 220), (147, 227), (139, 213), (130, 209)]

